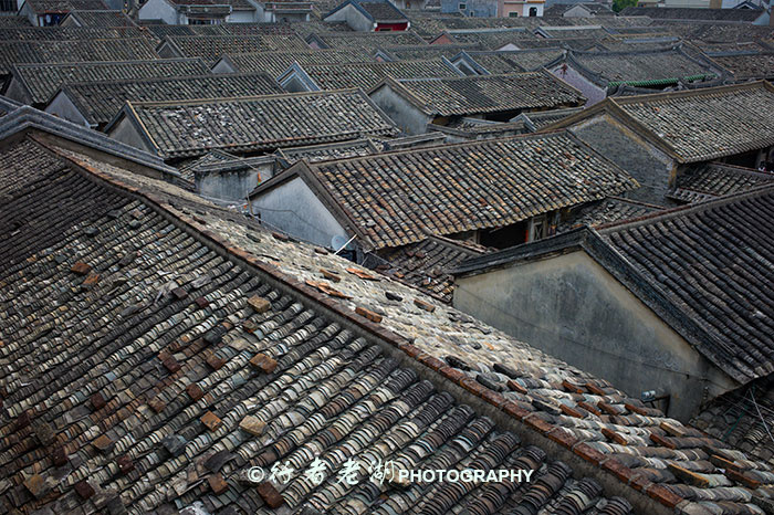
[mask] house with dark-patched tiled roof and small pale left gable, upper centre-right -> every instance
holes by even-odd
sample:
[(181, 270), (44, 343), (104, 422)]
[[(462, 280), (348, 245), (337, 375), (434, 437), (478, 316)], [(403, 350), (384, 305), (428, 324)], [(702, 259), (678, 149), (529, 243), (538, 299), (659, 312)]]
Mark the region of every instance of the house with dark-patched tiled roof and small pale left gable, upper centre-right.
[(506, 122), (522, 112), (585, 102), (580, 92), (545, 71), (399, 81), (388, 76), (368, 96), (408, 134), (422, 134), (430, 125), (448, 125), (461, 117)]

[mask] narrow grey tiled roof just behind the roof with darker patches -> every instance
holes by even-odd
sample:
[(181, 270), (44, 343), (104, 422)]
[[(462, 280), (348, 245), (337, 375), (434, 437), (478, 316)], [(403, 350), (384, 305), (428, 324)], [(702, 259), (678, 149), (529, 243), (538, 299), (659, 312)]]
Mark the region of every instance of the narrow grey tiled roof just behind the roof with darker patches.
[(369, 91), (383, 78), (459, 77), (453, 66), (440, 59), (373, 63), (305, 64), (302, 70), (321, 90), (360, 87)]

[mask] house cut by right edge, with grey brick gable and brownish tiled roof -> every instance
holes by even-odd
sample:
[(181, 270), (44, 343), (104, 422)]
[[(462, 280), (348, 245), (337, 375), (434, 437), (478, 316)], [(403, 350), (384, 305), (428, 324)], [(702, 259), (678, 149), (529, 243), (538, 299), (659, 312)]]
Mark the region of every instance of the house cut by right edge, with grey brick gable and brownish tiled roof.
[(690, 166), (721, 161), (757, 169), (774, 161), (774, 87), (767, 82), (608, 97), (543, 130), (568, 128), (631, 174), (626, 197), (669, 206)]

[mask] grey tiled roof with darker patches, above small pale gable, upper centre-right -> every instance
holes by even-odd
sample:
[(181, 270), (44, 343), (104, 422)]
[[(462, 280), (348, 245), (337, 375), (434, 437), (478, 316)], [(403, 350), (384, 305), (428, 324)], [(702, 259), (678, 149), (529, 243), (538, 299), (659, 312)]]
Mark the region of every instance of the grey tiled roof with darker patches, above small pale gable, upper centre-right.
[(584, 102), (580, 92), (547, 72), (387, 81), (390, 87), (431, 116), (532, 111), (576, 106)]

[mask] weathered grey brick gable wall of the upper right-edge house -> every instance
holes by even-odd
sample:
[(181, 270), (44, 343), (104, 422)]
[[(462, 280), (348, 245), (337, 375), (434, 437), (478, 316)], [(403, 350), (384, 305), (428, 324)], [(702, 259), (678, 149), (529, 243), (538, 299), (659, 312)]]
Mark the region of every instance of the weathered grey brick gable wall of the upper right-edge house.
[(625, 193), (625, 197), (660, 206), (670, 204), (665, 196), (676, 169), (669, 156), (608, 116), (595, 116), (571, 127), (571, 130), (637, 179), (640, 188)]

